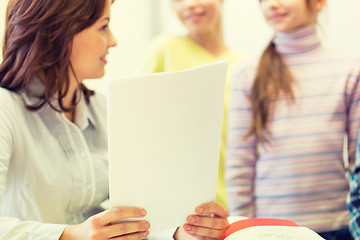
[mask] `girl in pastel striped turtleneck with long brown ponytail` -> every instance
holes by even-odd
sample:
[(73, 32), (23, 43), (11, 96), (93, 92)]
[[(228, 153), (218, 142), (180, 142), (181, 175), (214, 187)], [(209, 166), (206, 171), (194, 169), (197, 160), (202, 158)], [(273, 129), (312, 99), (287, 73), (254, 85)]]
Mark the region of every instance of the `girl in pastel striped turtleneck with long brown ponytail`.
[(326, 0), (260, 0), (275, 36), (233, 77), (226, 157), (230, 215), (285, 218), (326, 239), (347, 229), (347, 136), (354, 165), (360, 58), (322, 46)]

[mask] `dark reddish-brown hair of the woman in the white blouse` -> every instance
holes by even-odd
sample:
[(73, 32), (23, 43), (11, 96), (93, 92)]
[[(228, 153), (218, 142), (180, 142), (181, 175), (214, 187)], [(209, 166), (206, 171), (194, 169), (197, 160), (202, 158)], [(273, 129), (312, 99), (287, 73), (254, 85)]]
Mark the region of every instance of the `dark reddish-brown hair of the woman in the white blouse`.
[[(45, 91), (35, 106), (48, 103), (57, 111), (69, 111), (62, 99), (69, 91), (70, 54), (74, 35), (94, 24), (107, 0), (10, 0), (6, 12), (0, 87), (28, 91), (36, 77)], [(75, 74), (75, 73), (74, 73)], [(94, 94), (82, 83), (85, 99)], [(51, 104), (57, 96), (60, 109)]]

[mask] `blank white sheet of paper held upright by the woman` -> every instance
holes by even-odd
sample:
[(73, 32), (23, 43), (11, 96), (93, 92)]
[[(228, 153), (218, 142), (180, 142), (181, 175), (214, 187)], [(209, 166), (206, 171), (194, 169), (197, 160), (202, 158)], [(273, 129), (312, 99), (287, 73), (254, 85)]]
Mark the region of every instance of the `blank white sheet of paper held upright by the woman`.
[(110, 205), (148, 211), (151, 232), (214, 201), (227, 61), (108, 82)]

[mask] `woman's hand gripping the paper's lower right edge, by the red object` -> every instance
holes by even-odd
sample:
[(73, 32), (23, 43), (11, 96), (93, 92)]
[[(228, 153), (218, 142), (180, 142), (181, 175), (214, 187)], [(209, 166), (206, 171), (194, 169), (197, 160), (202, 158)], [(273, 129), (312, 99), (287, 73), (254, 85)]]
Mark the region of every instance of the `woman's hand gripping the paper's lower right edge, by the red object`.
[[(186, 233), (198, 240), (221, 239), (229, 227), (227, 211), (215, 202), (205, 203), (195, 210), (197, 215), (187, 217), (187, 223), (183, 225)], [(181, 230), (180, 230), (181, 231)], [(189, 239), (187, 237), (175, 237), (178, 240)]]

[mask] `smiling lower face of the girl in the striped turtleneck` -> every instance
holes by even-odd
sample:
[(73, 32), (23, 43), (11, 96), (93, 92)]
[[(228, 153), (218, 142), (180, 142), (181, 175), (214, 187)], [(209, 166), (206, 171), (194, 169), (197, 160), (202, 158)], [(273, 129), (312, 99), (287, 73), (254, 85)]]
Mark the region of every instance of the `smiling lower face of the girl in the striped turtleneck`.
[(298, 28), (316, 24), (317, 13), (324, 0), (260, 0), (266, 22), (276, 32), (290, 32)]

